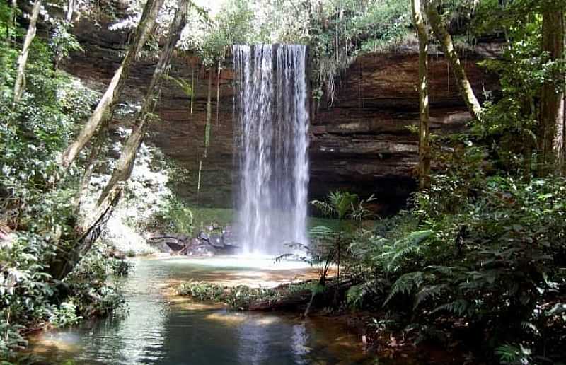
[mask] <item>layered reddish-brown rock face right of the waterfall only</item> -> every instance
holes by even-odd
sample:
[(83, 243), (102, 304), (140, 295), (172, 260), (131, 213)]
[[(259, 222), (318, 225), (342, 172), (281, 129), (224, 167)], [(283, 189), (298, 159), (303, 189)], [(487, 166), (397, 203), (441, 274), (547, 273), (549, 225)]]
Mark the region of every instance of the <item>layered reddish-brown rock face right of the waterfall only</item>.
[[(497, 89), (495, 78), (477, 62), (463, 60), (476, 95)], [(333, 105), (320, 106), (311, 122), (311, 186), (313, 197), (346, 189), (362, 197), (376, 194), (378, 210), (391, 213), (403, 206), (416, 187), (419, 101), (415, 47), (358, 57), (344, 77)], [(430, 129), (433, 134), (457, 132), (470, 119), (454, 76), (439, 54), (429, 57)]]

